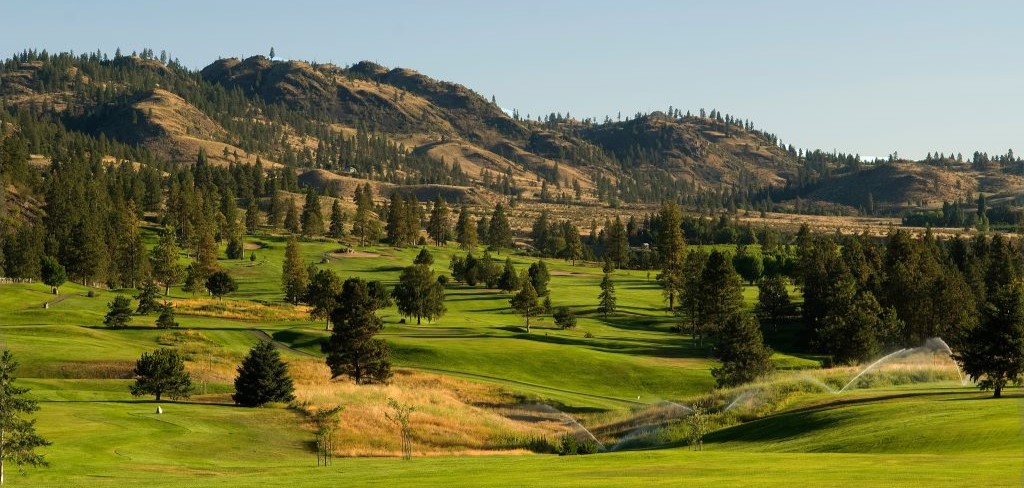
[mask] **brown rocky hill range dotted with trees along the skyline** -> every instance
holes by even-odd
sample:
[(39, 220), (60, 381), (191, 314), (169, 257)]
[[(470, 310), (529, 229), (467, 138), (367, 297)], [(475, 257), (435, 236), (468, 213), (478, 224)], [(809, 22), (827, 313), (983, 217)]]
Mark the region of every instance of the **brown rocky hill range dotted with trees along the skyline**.
[(1012, 153), (864, 162), (797, 149), (750, 121), (703, 109), (527, 119), (457, 83), (369, 61), (342, 68), (253, 56), (194, 72), (152, 50), (26, 51), (4, 62), (0, 79), (11, 114), (51, 114), (155, 163), (191, 163), (203, 150), (219, 164), (294, 168), (322, 187), (339, 177), (461, 194), (474, 187), (469, 201), (483, 202), (540, 198), (547, 186), (552, 202), (679, 196), (707, 208), (896, 215), (971, 203), (979, 192), (1012, 202), (1022, 191)]

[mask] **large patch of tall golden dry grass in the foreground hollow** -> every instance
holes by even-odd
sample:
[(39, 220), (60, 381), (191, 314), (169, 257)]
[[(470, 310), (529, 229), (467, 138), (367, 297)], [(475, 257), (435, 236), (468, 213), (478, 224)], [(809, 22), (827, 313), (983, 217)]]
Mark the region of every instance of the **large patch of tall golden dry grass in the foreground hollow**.
[(437, 374), (398, 370), (388, 385), (330, 379), (316, 360), (292, 359), (297, 404), (306, 411), (343, 405), (335, 454), (399, 455), (398, 429), (385, 417), (387, 399), (414, 405), (414, 453), (423, 455), (528, 452), (565, 432), (562, 419), (523, 414), (519, 400), (499, 387)]

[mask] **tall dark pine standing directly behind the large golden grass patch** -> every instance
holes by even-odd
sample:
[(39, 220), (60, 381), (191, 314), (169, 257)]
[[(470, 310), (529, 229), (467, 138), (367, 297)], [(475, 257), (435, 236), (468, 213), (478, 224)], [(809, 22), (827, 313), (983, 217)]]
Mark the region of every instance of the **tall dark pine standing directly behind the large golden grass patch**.
[(374, 338), (384, 326), (376, 313), (378, 303), (366, 281), (348, 278), (342, 284), (338, 307), (331, 313), (331, 339), (323, 346), (332, 376), (344, 374), (356, 384), (383, 383), (391, 376), (390, 349)]

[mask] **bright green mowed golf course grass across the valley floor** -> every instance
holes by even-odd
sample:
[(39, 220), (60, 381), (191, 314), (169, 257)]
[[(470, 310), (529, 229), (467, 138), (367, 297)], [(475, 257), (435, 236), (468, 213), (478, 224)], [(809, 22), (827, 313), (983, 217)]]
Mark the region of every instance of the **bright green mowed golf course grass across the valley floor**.
[[(177, 332), (156, 329), (154, 315), (133, 317), (123, 330), (103, 327), (106, 303), (118, 292), (93, 291), (98, 296), (90, 298), (88, 289), (68, 284), (54, 297), (42, 284), (0, 285), (0, 348), (16, 354), (20, 383), (41, 401), (39, 430), (53, 442), (44, 450), (51, 467), (30, 470), (25, 478), (14, 475), (12, 485), (863, 487), (1017, 486), (1022, 480), (1022, 400), (987, 400), (988, 394), (948, 384), (811, 395), (774, 415), (710, 434), (703, 452), (677, 445), (580, 457), (449, 456), (438, 455), (446, 452), (443, 446), (431, 446), (425, 449), (430, 457), (408, 462), (336, 458), (331, 468), (317, 469), (311, 428), (300, 413), (229, 404), (233, 367), (262, 332), (297, 350), (284, 351), (287, 359), (307, 362), (321, 360), (319, 344), (328, 334), (323, 322), (301, 318), (301, 309), (282, 303), (285, 239), (256, 236), (247, 242), (256, 248), (255, 262), (248, 252), (245, 260), (221, 261), (239, 281), (237, 294), (217, 302), (172, 289), (170, 299), (183, 311), (177, 317), (183, 329)], [(370, 247), (360, 248), (366, 254), (356, 257), (337, 257), (341, 248), (302, 243), (307, 263), (321, 263), (326, 256), (318, 265), (342, 277), (388, 284), (418, 252)], [(452, 256), (464, 254), (429, 249), (437, 272), (447, 271)], [(499, 263), (505, 258), (495, 256)], [(537, 260), (512, 259), (518, 269)], [(575, 329), (557, 329), (545, 318), (526, 334), (522, 318), (508, 308), (509, 295), (458, 283), (447, 290), (447, 313), (433, 323), (402, 323), (394, 307), (382, 310), (382, 337), (400, 369), (483, 384), (489, 393), (475, 399), (441, 395), (473, 389), (427, 375), (366, 390), (357, 399), (351, 390), (361, 387), (332, 383), (317, 391), (304, 386), (310, 390), (303, 398), (342, 404), (351, 399), (342, 423), (376, 426), (367, 431), (372, 435), (360, 434), (362, 427), (349, 430), (354, 434), (345, 439), (366, 445), (339, 451), (394, 451), (398, 433), (383, 418), (387, 396), (423, 402), (420, 439), (462, 435), (460, 442), (476, 449), (494, 442), (466, 442), (465, 432), (506, 429), (486, 404), (494, 398), (506, 401), (506, 394), (556, 405), (586, 424), (591, 417), (628, 414), (638, 403), (694, 398), (713, 388), (710, 369), (716, 362), (707, 347), (672, 331), (680, 321), (664, 312), (656, 272), (615, 271), (620, 311), (603, 317), (595, 312), (599, 268), (546, 262), (552, 303), (578, 314)], [(43, 303), (58, 298), (43, 309)], [(744, 298), (753, 307), (756, 287), (745, 286)], [(815, 367), (816, 358), (787, 350), (794, 341), (786, 334), (773, 358), (776, 365)], [(128, 394), (126, 371), (142, 352), (166, 346), (185, 352), (189, 370), (207, 394), (163, 402), (166, 411), (157, 415), (155, 403)], [(412, 390), (422, 385), (434, 390)], [(489, 390), (495, 386), (505, 393)], [(473, 418), (463, 420), (465, 432), (450, 434), (459, 430), (460, 418), (444, 415)]]

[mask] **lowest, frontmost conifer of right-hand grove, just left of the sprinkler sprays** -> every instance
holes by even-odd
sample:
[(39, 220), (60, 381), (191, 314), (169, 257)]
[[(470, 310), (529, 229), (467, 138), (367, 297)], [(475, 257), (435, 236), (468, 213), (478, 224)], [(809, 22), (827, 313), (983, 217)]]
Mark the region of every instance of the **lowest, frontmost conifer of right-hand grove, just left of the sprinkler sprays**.
[(722, 366), (711, 373), (721, 388), (756, 381), (773, 369), (771, 349), (764, 345), (761, 327), (744, 312), (734, 313), (722, 323), (715, 357)]

